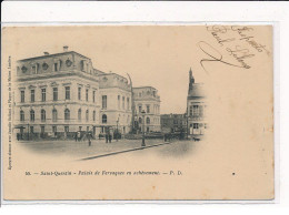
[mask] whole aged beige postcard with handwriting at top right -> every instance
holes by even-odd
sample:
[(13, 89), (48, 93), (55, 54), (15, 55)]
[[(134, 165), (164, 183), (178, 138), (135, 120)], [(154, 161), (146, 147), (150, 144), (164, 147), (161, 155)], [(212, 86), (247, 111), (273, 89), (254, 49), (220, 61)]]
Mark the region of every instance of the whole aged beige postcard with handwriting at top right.
[(3, 199), (273, 199), (272, 30), (3, 27)]

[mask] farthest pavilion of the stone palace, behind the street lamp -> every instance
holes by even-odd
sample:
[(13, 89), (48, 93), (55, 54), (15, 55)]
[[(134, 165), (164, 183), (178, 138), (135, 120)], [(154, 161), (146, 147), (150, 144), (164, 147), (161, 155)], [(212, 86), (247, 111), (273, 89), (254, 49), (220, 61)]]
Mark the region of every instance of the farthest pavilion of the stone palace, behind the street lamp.
[[(142, 131), (144, 123), (146, 132), (160, 131), (160, 96), (158, 90), (152, 86), (133, 88), (134, 101), (134, 129)], [(144, 114), (144, 122), (142, 111)]]

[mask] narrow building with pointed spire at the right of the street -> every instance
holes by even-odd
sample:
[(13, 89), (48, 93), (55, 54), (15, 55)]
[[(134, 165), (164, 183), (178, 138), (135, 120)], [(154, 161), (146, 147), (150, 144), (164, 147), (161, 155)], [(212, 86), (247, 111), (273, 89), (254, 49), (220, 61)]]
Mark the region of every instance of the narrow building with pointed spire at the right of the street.
[(189, 71), (189, 90), (187, 98), (188, 134), (200, 136), (206, 133), (206, 95), (203, 83), (195, 83), (192, 71)]

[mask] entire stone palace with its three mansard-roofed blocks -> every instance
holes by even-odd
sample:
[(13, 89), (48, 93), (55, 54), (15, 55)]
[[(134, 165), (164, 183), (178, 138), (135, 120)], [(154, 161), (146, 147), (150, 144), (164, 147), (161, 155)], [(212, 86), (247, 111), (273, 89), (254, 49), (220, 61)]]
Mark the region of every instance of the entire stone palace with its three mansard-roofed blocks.
[[(77, 132), (126, 134), (136, 123), (132, 108), (146, 110), (146, 131), (160, 131), (160, 98), (155, 88), (132, 88), (128, 79), (93, 68), (69, 51), (17, 62), (14, 129), (22, 139), (67, 139)], [(139, 110), (139, 109), (138, 109)], [(134, 116), (139, 129), (139, 111)], [(142, 124), (140, 122), (140, 124)], [(141, 129), (140, 129), (141, 130)]]

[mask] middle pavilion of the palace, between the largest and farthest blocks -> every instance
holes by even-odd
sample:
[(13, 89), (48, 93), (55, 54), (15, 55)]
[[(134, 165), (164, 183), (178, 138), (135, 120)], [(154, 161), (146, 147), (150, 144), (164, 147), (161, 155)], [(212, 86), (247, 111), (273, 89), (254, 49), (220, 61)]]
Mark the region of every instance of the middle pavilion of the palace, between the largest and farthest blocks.
[(100, 127), (126, 134), (131, 127), (131, 88), (128, 80), (116, 73), (99, 74), (101, 98)]

